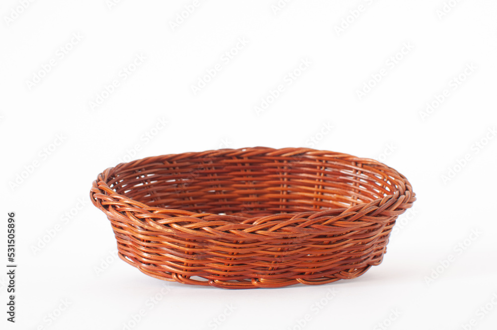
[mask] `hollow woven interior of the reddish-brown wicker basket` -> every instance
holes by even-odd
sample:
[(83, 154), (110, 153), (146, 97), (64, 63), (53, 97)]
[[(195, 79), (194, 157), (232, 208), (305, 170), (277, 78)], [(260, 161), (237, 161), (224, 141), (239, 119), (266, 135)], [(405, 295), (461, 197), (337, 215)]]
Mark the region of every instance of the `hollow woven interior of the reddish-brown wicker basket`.
[[(116, 166), (118, 194), (150, 207), (254, 217), (348, 208), (398, 190), (373, 160), (331, 156), (197, 157)], [(387, 174), (389, 173), (389, 174)]]

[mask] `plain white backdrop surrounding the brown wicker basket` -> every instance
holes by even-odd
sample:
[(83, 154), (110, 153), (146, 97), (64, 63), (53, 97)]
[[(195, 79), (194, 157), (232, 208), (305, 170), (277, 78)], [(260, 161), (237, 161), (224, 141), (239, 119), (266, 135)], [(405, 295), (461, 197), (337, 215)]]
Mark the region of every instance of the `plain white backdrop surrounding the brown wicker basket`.
[[(22, 2), (0, 5), (0, 264), (7, 212), (18, 264), (15, 324), (1, 271), (2, 329), (495, 329), (497, 2), (294, 0), (274, 12), (276, 0), (200, 0), (174, 28), (192, 0)], [(89, 202), (97, 174), (122, 160), (311, 144), (379, 159), (418, 197), (383, 263), (353, 280), (164, 282), (114, 258), (110, 223)]]

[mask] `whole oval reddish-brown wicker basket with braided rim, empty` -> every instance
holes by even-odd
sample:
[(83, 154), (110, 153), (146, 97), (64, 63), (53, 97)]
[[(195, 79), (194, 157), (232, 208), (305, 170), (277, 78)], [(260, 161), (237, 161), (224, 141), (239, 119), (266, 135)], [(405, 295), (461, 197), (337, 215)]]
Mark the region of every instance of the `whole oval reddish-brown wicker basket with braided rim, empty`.
[(222, 149), (108, 168), (90, 192), (119, 256), (220, 288), (350, 279), (378, 265), (411, 184), (377, 161), (308, 148)]

